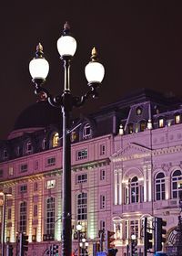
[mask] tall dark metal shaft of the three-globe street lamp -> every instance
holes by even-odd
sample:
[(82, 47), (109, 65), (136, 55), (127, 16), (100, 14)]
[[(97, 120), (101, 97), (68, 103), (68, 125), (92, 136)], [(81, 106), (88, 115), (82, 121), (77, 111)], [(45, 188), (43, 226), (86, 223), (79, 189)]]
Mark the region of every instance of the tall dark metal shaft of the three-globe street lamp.
[(62, 213), (62, 256), (71, 256), (72, 253), (72, 225), (71, 225), (71, 144), (69, 122), (71, 94), (69, 93), (69, 62), (65, 63), (65, 91), (63, 94), (63, 213)]

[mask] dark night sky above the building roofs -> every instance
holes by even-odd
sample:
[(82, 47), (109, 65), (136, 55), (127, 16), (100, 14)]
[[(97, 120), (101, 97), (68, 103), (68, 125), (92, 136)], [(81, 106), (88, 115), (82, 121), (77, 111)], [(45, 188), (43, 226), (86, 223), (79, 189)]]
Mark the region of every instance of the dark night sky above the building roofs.
[(38, 42), (50, 65), (45, 87), (62, 93), (64, 73), (56, 40), (66, 20), (77, 41), (73, 94), (87, 90), (84, 69), (93, 46), (106, 68), (100, 98), (79, 112), (95, 112), (139, 88), (182, 95), (181, 0), (2, 1), (0, 139), (12, 131), (18, 114), (36, 101), (28, 65)]

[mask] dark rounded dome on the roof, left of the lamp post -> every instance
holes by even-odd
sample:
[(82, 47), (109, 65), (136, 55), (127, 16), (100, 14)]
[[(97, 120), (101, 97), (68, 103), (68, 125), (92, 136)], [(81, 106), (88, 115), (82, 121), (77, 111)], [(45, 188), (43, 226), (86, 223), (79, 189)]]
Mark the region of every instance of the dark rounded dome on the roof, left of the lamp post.
[(25, 128), (45, 127), (55, 123), (62, 123), (61, 108), (55, 108), (47, 101), (37, 101), (20, 113), (15, 121), (14, 131)]

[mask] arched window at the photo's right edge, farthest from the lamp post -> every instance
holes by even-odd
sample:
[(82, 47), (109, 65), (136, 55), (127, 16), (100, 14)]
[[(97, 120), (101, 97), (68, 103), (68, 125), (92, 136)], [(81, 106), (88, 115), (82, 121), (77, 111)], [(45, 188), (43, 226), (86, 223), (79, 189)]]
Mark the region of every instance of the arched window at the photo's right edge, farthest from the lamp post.
[(182, 173), (176, 170), (172, 175), (172, 197), (178, 198), (182, 193)]

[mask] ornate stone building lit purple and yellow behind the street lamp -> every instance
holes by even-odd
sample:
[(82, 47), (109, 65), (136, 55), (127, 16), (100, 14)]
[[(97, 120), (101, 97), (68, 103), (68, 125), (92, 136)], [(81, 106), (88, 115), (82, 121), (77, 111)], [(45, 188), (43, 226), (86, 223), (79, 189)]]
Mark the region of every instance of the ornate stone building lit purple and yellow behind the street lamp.
[[(143, 252), (143, 222), (167, 220), (172, 243), (182, 192), (182, 102), (141, 90), (70, 125), (72, 142), (73, 253), (76, 225), (93, 254), (99, 230), (115, 231), (119, 255), (136, 235)], [(7, 140), (0, 142), (0, 187), (5, 200), (5, 240), (15, 247), (28, 235), (28, 255), (61, 248), (61, 114), (46, 101), (22, 112)], [(3, 209), (3, 206), (1, 207)], [(3, 211), (1, 210), (1, 222)], [(15, 250), (15, 249), (14, 249)], [(48, 255), (48, 254), (47, 254)]]

